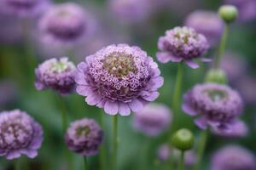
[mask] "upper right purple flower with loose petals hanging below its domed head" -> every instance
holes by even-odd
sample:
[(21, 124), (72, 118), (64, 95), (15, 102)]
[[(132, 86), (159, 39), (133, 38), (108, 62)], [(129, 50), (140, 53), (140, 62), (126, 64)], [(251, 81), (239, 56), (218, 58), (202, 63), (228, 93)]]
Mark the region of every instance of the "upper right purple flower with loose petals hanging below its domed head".
[(168, 61), (186, 62), (191, 68), (198, 68), (199, 65), (193, 59), (199, 58), (202, 61), (210, 61), (202, 58), (208, 49), (207, 38), (190, 27), (175, 27), (166, 31), (164, 37), (160, 37), (158, 48), (160, 52), (156, 54), (161, 63)]

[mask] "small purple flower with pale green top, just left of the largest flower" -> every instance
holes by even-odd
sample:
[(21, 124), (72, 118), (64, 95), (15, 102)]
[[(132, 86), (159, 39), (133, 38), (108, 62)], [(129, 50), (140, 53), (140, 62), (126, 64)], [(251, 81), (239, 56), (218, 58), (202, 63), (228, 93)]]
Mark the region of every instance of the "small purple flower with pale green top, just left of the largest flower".
[(38, 90), (52, 88), (61, 94), (69, 94), (75, 88), (76, 67), (67, 57), (48, 59), (35, 70), (35, 87)]

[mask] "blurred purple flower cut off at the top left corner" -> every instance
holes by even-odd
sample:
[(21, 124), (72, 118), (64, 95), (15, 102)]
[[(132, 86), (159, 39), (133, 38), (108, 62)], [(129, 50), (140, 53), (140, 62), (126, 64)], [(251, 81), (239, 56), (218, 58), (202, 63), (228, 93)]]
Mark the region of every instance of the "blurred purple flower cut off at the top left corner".
[(19, 17), (35, 17), (49, 7), (49, 0), (1, 0), (0, 11), (3, 14)]

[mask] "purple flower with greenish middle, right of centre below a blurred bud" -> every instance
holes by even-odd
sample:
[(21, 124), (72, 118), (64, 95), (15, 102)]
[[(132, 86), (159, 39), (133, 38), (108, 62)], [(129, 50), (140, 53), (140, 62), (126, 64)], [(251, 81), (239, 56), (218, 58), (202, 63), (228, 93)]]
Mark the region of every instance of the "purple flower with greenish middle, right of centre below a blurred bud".
[(230, 87), (217, 83), (198, 84), (183, 97), (183, 111), (199, 115), (195, 124), (202, 129), (209, 125), (219, 131), (230, 132), (238, 122), (243, 108), (240, 95)]

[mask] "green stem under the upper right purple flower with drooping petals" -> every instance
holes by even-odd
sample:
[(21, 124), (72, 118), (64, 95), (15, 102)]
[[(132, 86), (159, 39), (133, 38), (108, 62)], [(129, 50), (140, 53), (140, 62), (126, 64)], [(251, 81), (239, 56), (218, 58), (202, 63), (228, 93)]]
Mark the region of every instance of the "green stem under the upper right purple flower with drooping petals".
[(172, 98), (172, 109), (173, 109), (174, 115), (177, 115), (179, 112), (182, 81), (183, 81), (183, 63), (178, 63), (177, 78), (176, 78), (174, 94)]

